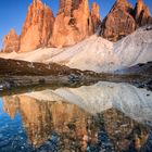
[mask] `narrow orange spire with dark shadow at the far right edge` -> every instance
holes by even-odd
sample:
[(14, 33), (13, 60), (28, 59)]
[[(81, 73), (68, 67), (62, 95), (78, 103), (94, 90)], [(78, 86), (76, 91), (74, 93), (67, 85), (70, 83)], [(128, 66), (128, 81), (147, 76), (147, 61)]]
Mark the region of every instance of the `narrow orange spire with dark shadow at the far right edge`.
[(138, 26), (143, 26), (152, 23), (149, 8), (143, 3), (143, 0), (138, 0), (135, 8), (135, 20)]

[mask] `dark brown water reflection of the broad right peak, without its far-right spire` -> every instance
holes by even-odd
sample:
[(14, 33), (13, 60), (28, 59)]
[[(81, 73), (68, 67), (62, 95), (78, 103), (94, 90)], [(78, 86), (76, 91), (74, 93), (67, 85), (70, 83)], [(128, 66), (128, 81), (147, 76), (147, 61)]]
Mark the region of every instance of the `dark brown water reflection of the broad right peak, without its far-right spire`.
[(115, 150), (124, 150), (129, 145), (126, 137), (131, 132), (134, 122), (115, 110), (109, 110), (103, 114), (104, 126), (110, 138), (114, 142)]

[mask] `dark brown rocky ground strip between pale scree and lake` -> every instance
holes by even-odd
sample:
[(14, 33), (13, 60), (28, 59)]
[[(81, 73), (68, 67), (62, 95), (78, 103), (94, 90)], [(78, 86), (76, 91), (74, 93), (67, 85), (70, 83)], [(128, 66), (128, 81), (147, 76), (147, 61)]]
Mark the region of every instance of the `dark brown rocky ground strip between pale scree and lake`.
[(41, 64), (0, 59), (0, 90), (39, 85), (77, 87), (97, 81), (129, 83), (152, 90), (152, 63), (138, 64), (115, 74), (79, 71), (55, 63)]

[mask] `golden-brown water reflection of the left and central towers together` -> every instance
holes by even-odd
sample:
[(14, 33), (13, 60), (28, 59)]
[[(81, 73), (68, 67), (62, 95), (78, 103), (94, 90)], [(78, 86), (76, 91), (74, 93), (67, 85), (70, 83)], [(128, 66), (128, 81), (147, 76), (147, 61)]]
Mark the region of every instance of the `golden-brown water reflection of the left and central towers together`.
[(86, 121), (89, 114), (74, 104), (13, 96), (3, 98), (3, 106), (12, 118), (17, 111), (21, 113), (27, 137), (35, 147), (41, 145), (54, 131), (61, 135), (60, 144), (65, 148), (75, 140), (87, 147), (83, 139), (88, 137)]

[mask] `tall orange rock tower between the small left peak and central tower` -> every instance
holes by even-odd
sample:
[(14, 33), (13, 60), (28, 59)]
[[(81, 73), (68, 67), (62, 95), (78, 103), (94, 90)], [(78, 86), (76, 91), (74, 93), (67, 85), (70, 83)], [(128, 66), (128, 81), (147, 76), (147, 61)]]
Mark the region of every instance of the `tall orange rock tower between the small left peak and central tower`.
[(52, 35), (53, 23), (52, 11), (41, 0), (34, 0), (22, 28), (20, 52), (47, 46)]

